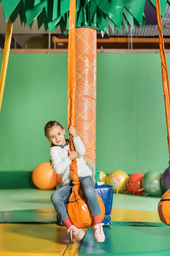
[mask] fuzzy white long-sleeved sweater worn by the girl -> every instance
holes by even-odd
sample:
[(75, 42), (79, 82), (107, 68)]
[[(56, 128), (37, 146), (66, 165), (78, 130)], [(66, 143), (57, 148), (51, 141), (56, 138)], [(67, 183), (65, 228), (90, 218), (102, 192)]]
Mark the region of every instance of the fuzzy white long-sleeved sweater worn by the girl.
[[(79, 177), (93, 176), (91, 169), (86, 165), (83, 156), (85, 155), (85, 146), (82, 143), (80, 137), (73, 138), (74, 148), (77, 151), (77, 173)], [(62, 185), (65, 186), (71, 181), (70, 176), (70, 164), (71, 160), (68, 158), (69, 145), (61, 148), (59, 146), (53, 146), (50, 148), (50, 156), (54, 171), (62, 179)]]

